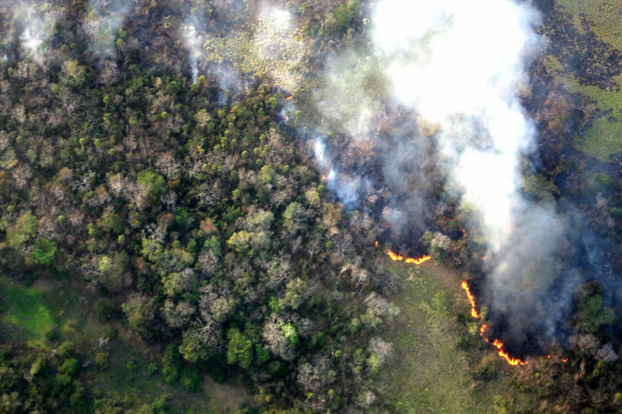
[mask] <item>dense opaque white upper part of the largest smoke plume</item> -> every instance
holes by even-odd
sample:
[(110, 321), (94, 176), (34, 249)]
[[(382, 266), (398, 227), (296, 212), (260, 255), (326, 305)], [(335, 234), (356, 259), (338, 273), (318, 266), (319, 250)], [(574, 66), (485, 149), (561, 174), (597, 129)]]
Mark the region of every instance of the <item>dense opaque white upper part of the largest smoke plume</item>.
[(516, 93), (537, 14), (503, 0), (386, 0), (371, 19), (395, 96), (440, 124), (440, 151), (498, 251), (521, 208), (519, 163), (533, 143)]

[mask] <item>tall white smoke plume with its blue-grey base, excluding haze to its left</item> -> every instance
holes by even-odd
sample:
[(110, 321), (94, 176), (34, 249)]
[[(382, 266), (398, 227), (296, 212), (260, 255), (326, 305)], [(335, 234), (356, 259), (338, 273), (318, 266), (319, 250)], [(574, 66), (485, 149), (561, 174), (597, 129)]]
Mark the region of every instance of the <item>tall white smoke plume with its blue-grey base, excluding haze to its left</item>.
[(550, 346), (567, 329), (580, 278), (552, 259), (565, 231), (554, 208), (532, 205), (520, 191), (535, 127), (519, 90), (539, 45), (539, 16), (509, 0), (386, 0), (371, 22), (394, 96), (439, 127), (448, 187), (475, 210), (490, 249), (482, 291), (493, 318), (503, 316), (508, 339)]

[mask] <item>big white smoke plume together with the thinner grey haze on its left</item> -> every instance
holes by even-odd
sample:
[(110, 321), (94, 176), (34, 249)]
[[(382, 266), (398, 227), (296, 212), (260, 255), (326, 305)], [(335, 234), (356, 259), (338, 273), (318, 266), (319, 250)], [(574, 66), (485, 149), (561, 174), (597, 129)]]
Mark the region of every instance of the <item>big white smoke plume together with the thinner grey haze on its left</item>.
[[(563, 342), (584, 281), (555, 260), (572, 228), (554, 205), (521, 194), (536, 128), (520, 95), (542, 46), (539, 14), (511, 0), (384, 0), (364, 13), (371, 42), (329, 59), (313, 95), (317, 139), (338, 145), (333, 137), (345, 135), (356, 162), (327, 165), (317, 156), (318, 167), (358, 177), (348, 191), (333, 190), (346, 206), (369, 209), (371, 182), (384, 199), (381, 219), (402, 239), (420, 236), (434, 211), (442, 213), (427, 178), (443, 172), (447, 197), (462, 200), (488, 246), (480, 300), (503, 339), (541, 349)], [(364, 154), (375, 174), (364, 171)]]

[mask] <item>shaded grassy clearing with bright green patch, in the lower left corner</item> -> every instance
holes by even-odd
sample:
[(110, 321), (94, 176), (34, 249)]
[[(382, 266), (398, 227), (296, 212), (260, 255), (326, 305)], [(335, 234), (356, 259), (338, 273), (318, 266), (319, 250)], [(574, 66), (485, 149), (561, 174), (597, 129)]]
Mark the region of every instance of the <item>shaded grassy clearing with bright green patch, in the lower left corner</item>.
[[(141, 407), (166, 395), (172, 413), (233, 413), (242, 403), (251, 400), (246, 390), (234, 385), (221, 385), (205, 377), (199, 392), (190, 393), (180, 384), (165, 384), (162, 380), (159, 351), (136, 341), (118, 323), (100, 323), (90, 308), (90, 297), (67, 282), (38, 279), (31, 287), (14, 280), (0, 278), (0, 297), (4, 301), (2, 326), (29, 346), (57, 346), (60, 341), (72, 341), (80, 353), (81, 362), (90, 367), (81, 372), (96, 398), (122, 401), (126, 407)], [(99, 338), (115, 326), (118, 337), (98, 346)], [(57, 327), (62, 339), (50, 343), (45, 334)], [(109, 367), (98, 369), (95, 356), (109, 352)], [(147, 365), (156, 362), (155, 374)]]

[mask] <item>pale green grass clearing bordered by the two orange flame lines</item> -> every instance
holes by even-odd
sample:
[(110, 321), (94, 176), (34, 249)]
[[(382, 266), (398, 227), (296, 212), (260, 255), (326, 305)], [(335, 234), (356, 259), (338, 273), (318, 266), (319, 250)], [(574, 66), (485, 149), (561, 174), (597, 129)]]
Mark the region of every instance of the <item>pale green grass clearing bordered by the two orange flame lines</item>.
[[(420, 267), (390, 264), (406, 281), (391, 298), (401, 308), (389, 338), (392, 366), (383, 370), (384, 397), (400, 413), (491, 412), (511, 388), (511, 374), (492, 349), (458, 321), (470, 307), (455, 272), (434, 262)], [(465, 345), (465, 338), (468, 345)], [(471, 366), (494, 366), (488, 380), (475, 381)]]

